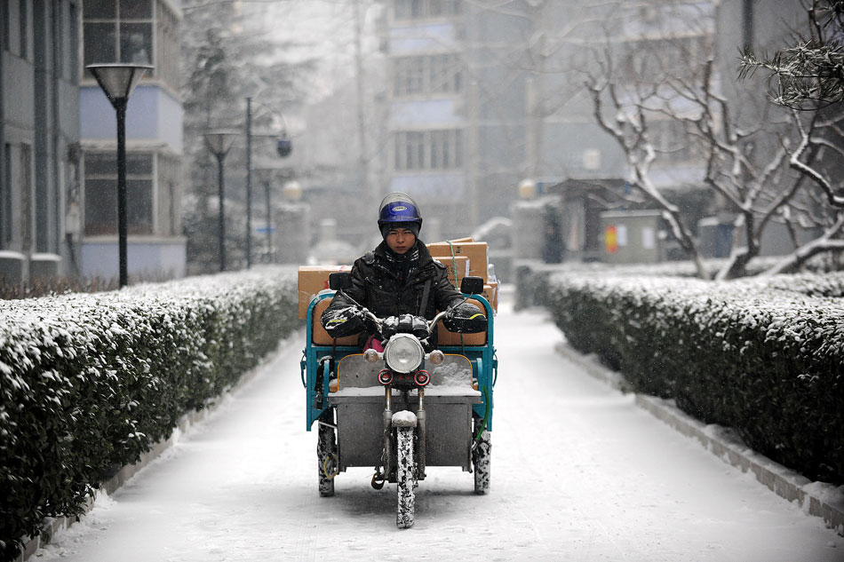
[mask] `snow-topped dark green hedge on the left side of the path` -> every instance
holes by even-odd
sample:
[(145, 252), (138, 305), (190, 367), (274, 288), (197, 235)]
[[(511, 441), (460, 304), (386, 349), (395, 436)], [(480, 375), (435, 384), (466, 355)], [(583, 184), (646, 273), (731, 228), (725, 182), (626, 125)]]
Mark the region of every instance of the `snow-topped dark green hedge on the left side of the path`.
[(3, 558), (298, 328), (296, 282), (278, 267), (0, 302)]

